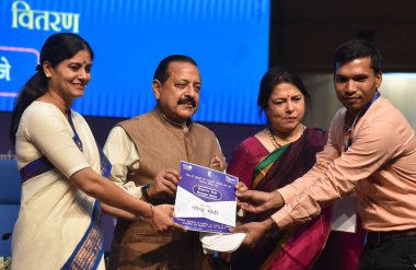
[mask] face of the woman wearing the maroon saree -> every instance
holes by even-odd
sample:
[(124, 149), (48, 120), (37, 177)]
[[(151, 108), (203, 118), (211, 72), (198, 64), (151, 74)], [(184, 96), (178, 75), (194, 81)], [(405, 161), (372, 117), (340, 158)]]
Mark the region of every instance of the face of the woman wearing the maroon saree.
[(291, 83), (277, 84), (268, 98), (266, 115), (276, 133), (290, 136), (300, 128), (305, 102), (302, 92)]

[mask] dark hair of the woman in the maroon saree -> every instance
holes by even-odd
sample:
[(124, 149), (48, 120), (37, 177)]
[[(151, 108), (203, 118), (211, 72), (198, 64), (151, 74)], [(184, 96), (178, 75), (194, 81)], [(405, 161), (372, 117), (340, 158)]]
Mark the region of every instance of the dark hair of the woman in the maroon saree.
[(273, 90), (280, 83), (293, 84), (303, 94), (305, 105), (309, 106), (311, 104), (311, 96), (309, 95), (307, 87), (304, 86), (299, 75), (297, 75), (293, 71), (290, 71), (282, 67), (271, 67), (263, 75), (259, 86), (257, 105), (261, 115), (268, 107), (268, 99), (271, 95)]

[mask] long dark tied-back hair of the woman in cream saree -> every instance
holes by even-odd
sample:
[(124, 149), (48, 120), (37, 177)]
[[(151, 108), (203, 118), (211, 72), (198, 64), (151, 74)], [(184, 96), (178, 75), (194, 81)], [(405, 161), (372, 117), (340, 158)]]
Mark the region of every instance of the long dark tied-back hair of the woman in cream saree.
[(36, 67), (37, 72), (23, 85), (14, 105), (9, 131), (9, 137), (13, 143), (15, 143), (15, 136), (23, 111), (28, 105), (31, 105), (39, 96), (44, 95), (47, 91), (49, 79), (46, 78), (44, 73), (44, 62), (49, 62), (54, 68), (61, 61), (72, 58), (83, 49), (86, 49), (90, 52), (91, 59), (94, 58), (94, 54), (90, 45), (79, 35), (71, 33), (59, 33), (54, 34), (46, 39), (41, 50), (41, 63)]

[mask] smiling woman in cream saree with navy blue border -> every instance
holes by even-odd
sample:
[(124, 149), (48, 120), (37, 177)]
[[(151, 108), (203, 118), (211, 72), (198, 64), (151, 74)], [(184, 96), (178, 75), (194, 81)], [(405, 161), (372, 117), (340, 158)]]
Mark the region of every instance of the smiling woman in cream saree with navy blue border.
[(92, 59), (80, 36), (51, 35), (18, 98), (10, 129), (22, 176), (14, 270), (105, 269), (101, 210), (140, 216), (160, 232), (184, 230), (173, 223), (172, 206), (153, 207), (103, 177), (111, 164), (86, 121), (71, 109), (91, 79)]

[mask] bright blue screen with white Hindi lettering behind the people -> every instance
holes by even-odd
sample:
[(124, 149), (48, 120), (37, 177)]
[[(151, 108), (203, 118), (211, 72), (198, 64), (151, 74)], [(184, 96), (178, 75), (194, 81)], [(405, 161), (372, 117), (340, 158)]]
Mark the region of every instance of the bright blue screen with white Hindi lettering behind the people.
[(167, 55), (184, 54), (197, 61), (203, 79), (195, 120), (258, 124), (269, 13), (269, 0), (2, 0), (0, 110), (12, 110), (45, 39), (72, 32), (95, 52), (91, 83), (74, 104), (83, 115), (148, 111), (155, 104), (157, 64)]

